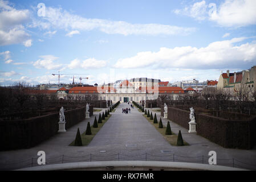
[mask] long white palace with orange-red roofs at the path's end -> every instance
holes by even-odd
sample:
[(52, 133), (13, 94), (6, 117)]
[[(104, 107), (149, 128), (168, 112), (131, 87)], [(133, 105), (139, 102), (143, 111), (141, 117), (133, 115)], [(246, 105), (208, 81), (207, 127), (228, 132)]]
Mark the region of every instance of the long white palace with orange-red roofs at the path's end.
[(116, 87), (113, 86), (75, 86), (71, 89), (60, 88), (56, 90), (58, 98), (66, 99), (67, 96), (76, 97), (83, 96), (84, 94), (96, 94), (99, 100), (112, 100), (113, 103), (120, 101), (145, 101), (145, 100), (155, 100), (160, 94), (172, 94), (174, 99), (178, 94), (184, 94), (184, 90), (177, 86), (158, 86), (156, 85), (146, 85), (137, 86), (132, 84), (128, 80), (120, 82)]

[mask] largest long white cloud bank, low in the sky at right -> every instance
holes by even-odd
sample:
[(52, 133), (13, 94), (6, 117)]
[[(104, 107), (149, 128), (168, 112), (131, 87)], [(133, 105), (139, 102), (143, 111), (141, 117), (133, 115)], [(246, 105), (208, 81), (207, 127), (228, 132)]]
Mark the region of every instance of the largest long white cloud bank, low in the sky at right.
[(206, 47), (161, 47), (158, 52), (138, 52), (136, 56), (119, 59), (115, 68), (245, 68), (256, 64), (256, 43), (235, 43), (246, 38), (234, 38), (210, 43)]

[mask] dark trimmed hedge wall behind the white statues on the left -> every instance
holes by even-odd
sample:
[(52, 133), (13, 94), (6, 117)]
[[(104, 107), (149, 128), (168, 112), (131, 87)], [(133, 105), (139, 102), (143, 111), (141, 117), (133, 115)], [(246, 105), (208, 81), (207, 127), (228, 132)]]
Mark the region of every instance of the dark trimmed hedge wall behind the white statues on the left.
[[(64, 107), (65, 109), (65, 107)], [(64, 111), (66, 129), (86, 117), (86, 107)], [(59, 113), (23, 120), (0, 122), (0, 150), (15, 150), (36, 146), (58, 133)]]

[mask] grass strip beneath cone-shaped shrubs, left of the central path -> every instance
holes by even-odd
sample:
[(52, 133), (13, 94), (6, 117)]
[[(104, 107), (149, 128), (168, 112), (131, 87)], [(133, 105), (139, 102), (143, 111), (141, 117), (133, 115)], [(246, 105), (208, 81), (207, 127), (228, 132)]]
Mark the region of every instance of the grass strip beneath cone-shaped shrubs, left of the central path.
[[(111, 114), (109, 114), (108, 117), (105, 117), (105, 119), (102, 120), (102, 123), (97, 123), (98, 127), (96, 128), (92, 127), (93, 125), (91, 125), (91, 131), (92, 131), (91, 135), (86, 135), (86, 131), (84, 131), (84, 133), (81, 134), (83, 146), (87, 146), (91, 142), (91, 140), (95, 137), (97, 132), (101, 129), (101, 127), (103, 127), (105, 122), (107, 122), (110, 117), (111, 117)], [(99, 119), (99, 117), (97, 119)], [(74, 136), (74, 141), (71, 142), (69, 146), (74, 146), (74, 143), (75, 143), (75, 136)]]

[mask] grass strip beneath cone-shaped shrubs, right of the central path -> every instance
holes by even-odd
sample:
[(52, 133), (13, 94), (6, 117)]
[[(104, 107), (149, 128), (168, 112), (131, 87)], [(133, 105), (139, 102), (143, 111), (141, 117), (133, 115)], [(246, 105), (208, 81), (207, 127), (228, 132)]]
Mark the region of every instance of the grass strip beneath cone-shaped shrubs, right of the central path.
[[(177, 139), (178, 139), (178, 135), (174, 134), (172, 132), (172, 135), (165, 135), (165, 130), (166, 127), (164, 126), (163, 128), (159, 128), (159, 120), (160, 118), (157, 119), (158, 123), (153, 123), (153, 120), (150, 120), (150, 118), (147, 117), (147, 115), (143, 114), (143, 116), (148, 119), (148, 122), (151, 123), (151, 125), (153, 125), (157, 131), (159, 131), (159, 133), (162, 134), (162, 136), (165, 138), (165, 140), (167, 140), (167, 142), (169, 142), (172, 146), (177, 146)], [(170, 126), (170, 128), (172, 129), (172, 126)], [(184, 146), (189, 146), (189, 144), (183, 139), (183, 143)]]

